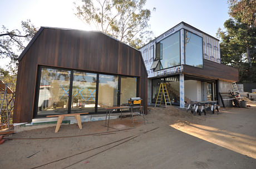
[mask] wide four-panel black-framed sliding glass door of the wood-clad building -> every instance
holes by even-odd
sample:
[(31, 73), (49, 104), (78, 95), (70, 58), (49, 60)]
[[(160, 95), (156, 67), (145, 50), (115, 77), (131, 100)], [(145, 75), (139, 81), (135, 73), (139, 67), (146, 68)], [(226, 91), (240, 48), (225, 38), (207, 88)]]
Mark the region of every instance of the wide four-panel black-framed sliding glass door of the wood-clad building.
[[(42, 66), (35, 116), (106, 112), (137, 96), (137, 78)], [(97, 106), (97, 107), (96, 107)]]

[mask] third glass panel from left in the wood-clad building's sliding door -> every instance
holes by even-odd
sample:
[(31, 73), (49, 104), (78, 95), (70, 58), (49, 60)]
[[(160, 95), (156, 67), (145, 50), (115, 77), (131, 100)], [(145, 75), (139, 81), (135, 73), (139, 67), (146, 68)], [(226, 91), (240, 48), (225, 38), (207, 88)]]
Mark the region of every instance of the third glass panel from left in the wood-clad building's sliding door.
[(98, 112), (107, 106), (117, 106), (118, 78), (115, 75), (99, 76)]

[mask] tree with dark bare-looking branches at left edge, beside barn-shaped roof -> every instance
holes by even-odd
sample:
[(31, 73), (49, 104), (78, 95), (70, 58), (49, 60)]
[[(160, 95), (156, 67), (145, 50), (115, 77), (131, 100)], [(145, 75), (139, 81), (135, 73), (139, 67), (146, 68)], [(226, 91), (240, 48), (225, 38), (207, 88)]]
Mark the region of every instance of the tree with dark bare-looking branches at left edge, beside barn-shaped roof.
[[(9, 69), (13, 72), (17, 70), (18, 53), (20, 54), (24, 50), (25, 44), (27, 44), (37, 32), (37, 28), (31, 24), (30, 20), (26, 22), (22, 21), (21, 26), (22, 30), (14, 29), (9, 31), (2, 25), (0, 32), (0, 57), (11, 59)], [(14, 66), (14, 68), (12, 66)]]

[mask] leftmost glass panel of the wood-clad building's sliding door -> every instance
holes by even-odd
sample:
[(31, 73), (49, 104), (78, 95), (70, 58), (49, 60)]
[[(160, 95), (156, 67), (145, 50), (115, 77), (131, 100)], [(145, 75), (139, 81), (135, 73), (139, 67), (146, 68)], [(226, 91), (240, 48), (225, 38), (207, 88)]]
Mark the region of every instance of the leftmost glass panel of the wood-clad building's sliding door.
[(38, 115), (67, 113), (70, 74), (68, 70), (42, 68)]

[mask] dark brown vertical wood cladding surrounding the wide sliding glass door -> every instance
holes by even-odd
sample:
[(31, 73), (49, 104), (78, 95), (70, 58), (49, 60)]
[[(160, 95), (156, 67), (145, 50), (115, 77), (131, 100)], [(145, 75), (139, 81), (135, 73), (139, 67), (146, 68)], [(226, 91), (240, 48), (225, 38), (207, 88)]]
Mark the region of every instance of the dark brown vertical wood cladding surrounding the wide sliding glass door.
[(147, 73), (141, 53), (100, 32), (43, 28), (19, 58), (13, 122), (31, 122), (37, 66), (139, 77), (147, 110)]

